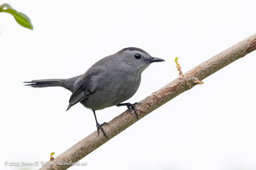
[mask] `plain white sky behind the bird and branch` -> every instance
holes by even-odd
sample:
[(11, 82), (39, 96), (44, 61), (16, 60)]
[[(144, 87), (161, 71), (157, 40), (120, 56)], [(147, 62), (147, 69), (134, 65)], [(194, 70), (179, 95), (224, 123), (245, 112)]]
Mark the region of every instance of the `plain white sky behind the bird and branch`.
[[(70, 78), (125, 47), (166, 60), (142, 73), (127, 102), (144, 99), (213, 55), (256, 33), (256, 1), (0, 1), (25, 13), (34, 30), (0, 13), (1, 169), (47, 161), (96, 130), (91, 110), (68, 112), (62, 87), (23, 81)], [(69, 169), (256, 169), (256, 51), (204, 79), (109, 140)], [(126, 110), (96, 112), (100, 123)]]

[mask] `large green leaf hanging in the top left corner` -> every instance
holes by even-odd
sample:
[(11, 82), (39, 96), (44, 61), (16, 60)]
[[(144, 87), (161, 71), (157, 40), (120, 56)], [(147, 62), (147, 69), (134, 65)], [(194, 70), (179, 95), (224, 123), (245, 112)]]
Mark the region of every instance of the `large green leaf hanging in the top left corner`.
[(15, 20), (21, 25), (26, 28), (33, 30), (33, 26), (31, 24), (30, 19), (23, 13), (17, 12), (16, 10), (12, 9), (9, 4), (3, 4), (0, 6), (0, 12), (7, 12), (12, 14)]

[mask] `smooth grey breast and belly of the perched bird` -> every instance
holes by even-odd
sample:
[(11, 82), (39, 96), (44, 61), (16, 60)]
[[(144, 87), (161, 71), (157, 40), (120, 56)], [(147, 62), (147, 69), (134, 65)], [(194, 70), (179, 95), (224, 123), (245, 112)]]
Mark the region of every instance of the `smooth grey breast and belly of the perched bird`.
[(140, 75), (111, 75), (98, 79), (91, 95), (82, 102), (85, 107), (100, 110), (130, 99), (140, 86)]

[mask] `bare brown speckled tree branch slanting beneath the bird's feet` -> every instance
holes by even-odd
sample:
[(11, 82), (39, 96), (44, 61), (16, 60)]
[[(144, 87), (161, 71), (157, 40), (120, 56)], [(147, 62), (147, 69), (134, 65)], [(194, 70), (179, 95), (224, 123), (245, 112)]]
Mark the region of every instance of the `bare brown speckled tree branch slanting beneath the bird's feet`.
[[(139, 114), (139, 120), (142, 117), (148, 115), (150, 112), (156, 110), (156, 108), (165, 104), (167, 101), (172, 100), (180, 93), (191, 89), (193, 86), (198, 84), (198, 81), (200, 82), (204, 78), (210, 76), (214, 72), (222, 69), (223, 67), (236, 61), (237, 59), (244, 57), (246, 54), (254, 51), (255, 49), (256, 34), (235, 44), (234, 46), (226, 49), (220, 54), (213, 56), (209, 60), (201, 63), (192, 70), (189, 70), (185, 74), (180, 75), (171, 83), (165, 85), (161, 89), (153, 92), (150, 96), (140, 101), (141, 105), (137, 105), (136, 107)], [(108, 134), (108, 138), (111, 139), (137, 121), (138, 120), (134, 112), (130, 114), (129, 111), (126, 110), (121, 115), (111, 120), (109, 122), (110, 125), (105, 126), (104, 130)], [(59, 162), (77, 162), (78, 160), (84, 158), (86, 155), (88, 155), (107, 141), (108, 139), (102, 133), (100, 133), (100, 136), (98, 137), (97, 131), (94, 131), (92, 134), (79, 141), (67, 151), (54, 158), (54, 160), (56, 161), (55, 165), (44, 165), (40, 169), (67, 169), (72, 165), (57, 164)], [(48, 163), (51, 163), (54, 160), (48, 161)]]

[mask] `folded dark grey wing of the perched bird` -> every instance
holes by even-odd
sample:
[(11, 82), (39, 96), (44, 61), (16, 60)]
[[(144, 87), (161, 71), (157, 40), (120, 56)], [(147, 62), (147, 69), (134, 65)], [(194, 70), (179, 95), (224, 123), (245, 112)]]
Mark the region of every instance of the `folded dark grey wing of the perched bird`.
[(68, 109), (74, 106), (76, 103), (86, 99), (92, 92), (93, 79), (99, 76), (102, 70), (94, 68), (89, 69), (84, 73), (74, 84), (74, 91), (70, 96)]

